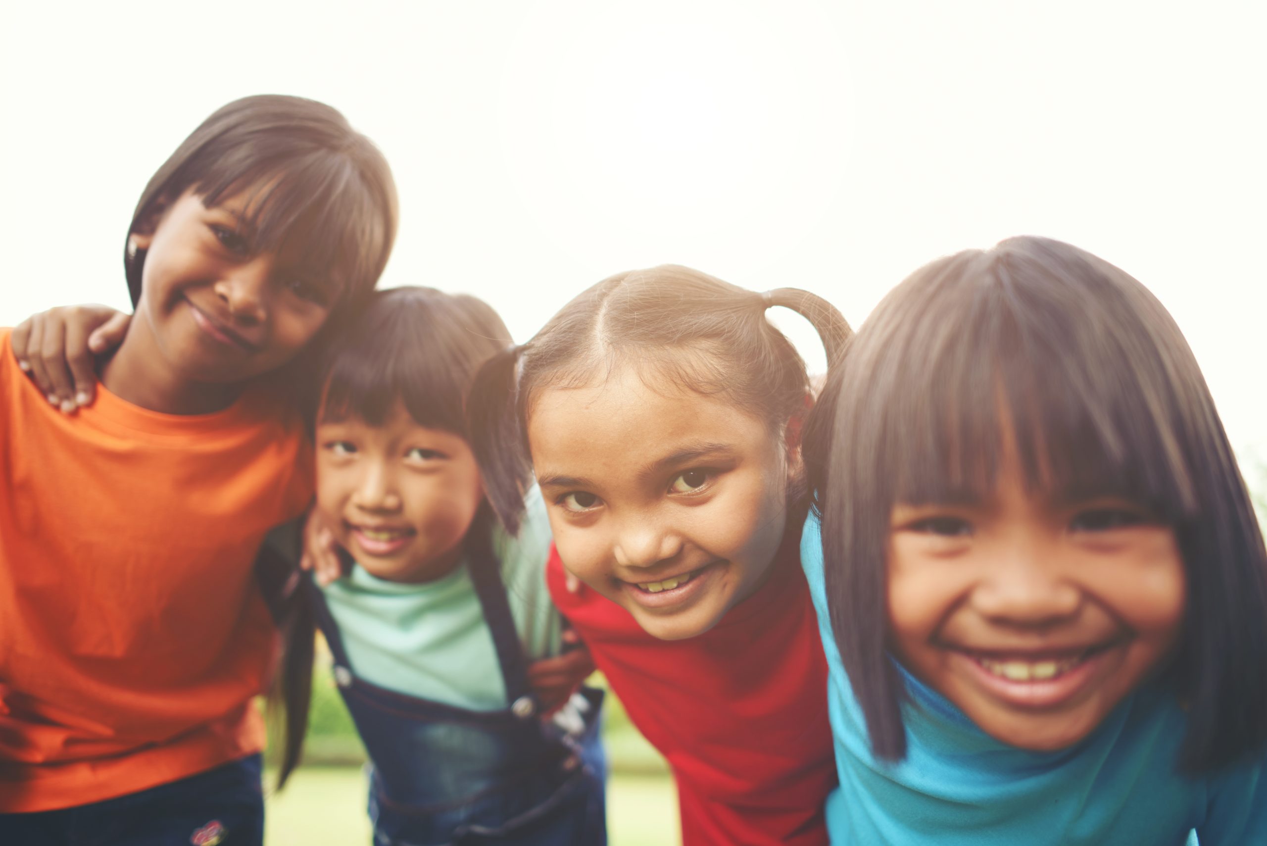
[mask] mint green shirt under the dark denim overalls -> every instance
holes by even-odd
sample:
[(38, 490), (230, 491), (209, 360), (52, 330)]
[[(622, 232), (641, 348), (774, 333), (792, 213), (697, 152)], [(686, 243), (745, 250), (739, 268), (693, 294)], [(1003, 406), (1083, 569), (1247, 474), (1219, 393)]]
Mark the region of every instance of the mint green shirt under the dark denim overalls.
[[(502, 561), (511, 616), (530, 661), (560, 652), (560, 617), (546, 589), (550, 524), (537, 488), (525, 498), (518, 537), (498, 527), (493, 550)], [(426, 584), (385, 581), (361, 567), (324, 588), (352, 669), (398, 693), (471, 710), (507, 707), (506, 684), (464, 560)]]

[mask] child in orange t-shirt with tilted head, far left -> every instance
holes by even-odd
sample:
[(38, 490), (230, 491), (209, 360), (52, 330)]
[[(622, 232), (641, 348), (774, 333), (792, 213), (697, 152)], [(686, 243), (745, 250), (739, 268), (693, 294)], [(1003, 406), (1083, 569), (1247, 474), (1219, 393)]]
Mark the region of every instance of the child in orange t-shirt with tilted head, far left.
[(369, 295), (395, 220), (341, 114), (246, 98), (142, 195), (137, 319), (95, 404), (60, 414), (0, 331), (0, 842), (262, 841), (252, 562), (312, 498), (280, 388)]

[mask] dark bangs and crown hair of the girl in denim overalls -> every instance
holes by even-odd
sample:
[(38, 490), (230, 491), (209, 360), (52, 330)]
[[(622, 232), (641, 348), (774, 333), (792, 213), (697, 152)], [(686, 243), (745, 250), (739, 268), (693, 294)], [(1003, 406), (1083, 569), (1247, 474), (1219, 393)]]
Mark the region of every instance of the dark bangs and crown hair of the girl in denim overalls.
[(509, 339), (502, 318), (475, 296), (433, 287), (376, 291), (326, 351), (315, 422), (383, 426), (400, 401), (418, 426), (469, 439), (471, 381)]

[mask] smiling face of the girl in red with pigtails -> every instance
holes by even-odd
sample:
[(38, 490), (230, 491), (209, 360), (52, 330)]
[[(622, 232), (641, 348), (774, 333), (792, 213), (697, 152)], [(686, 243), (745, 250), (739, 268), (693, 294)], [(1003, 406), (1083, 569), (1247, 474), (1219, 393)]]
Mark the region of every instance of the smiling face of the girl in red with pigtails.
[(564, 565), (647, 633), (707, 632), (761, 584), (796, 470), (763, 420), (623, 367), (542, 390), (527, 433)]

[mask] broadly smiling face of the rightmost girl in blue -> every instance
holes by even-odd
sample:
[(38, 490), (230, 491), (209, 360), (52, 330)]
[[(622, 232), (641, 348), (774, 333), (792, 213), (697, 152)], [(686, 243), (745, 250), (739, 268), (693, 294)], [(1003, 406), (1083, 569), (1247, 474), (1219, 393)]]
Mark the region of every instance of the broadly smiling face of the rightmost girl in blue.
[(902, 664), (1021, 748), (1086, 737), (1180, 634), (1173, 531), (1131, 502), (1054, 502), (1005, 461), (988, 502), (893, 508), (891, 640)]

